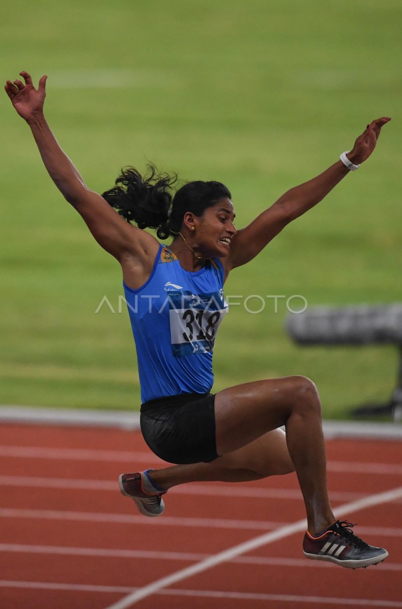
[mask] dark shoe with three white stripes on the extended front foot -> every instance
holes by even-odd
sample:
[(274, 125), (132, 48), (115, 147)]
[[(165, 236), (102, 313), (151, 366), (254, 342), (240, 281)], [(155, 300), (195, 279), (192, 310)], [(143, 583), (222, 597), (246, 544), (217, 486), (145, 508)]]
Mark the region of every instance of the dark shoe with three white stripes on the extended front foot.
[(388, 552), (383, 547), (369, 546), (353, 535), (353, 526), (346, 520), (337, 520), (318, 537), (312, 537), (306, 531), (303, 539), (304, 555), (315, 560), (328, 560), (348, 569), (366, 568), (387, 558)]

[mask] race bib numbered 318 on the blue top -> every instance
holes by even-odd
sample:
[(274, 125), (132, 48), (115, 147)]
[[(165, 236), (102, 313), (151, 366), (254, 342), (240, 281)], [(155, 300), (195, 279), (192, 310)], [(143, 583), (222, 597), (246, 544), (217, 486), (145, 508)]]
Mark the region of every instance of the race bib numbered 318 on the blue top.
[(169, 293), (169, 320), (174, 356), (208, 353), (228, 311), (224, 290), (210, 294)]

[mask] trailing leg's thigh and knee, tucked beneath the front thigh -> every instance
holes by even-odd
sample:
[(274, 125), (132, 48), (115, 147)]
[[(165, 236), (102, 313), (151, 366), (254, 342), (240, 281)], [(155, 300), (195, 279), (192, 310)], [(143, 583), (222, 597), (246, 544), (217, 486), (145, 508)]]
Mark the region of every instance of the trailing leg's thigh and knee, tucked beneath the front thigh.
[[(282, 429), (273, 429), (261, 435), (250, 444), (236, 451), (228, 452), (216, 461), (219, 466), (230, 470), (250, 470), (259, 477), (289, 474), (294, 465), (286, 446), (286, 436)], [(257, 476), (258, 477), (258, 476)]]

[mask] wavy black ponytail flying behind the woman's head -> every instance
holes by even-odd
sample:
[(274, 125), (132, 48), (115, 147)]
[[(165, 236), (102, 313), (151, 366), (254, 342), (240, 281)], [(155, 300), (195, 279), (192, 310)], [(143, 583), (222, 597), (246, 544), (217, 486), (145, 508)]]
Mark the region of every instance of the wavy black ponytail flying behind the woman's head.
[(148, 169), (148, 174), (142, 177), (135, 167), (125, 167), (115, 181), (116, 186), (105, 191), (102, 197), (138, 228), (159, 228), (168, 223), (171, 190), (177, 175), (159, 174), (151, 163)]

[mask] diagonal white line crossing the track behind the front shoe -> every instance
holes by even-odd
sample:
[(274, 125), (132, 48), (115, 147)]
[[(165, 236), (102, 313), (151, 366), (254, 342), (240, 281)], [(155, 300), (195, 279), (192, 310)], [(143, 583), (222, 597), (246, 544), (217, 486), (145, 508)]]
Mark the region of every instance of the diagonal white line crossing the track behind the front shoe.
[[(342, 512), (356, 512), (358, 510), (362, 510), (366, 507), (372, 507), (373, 505), (383, 504), (389, 501), (395, 501), (395, 499), (400, 499), (402, 497), (402, 487), (393, 488), (390, 491), (386, 491), (386, 493), (378, 493), (376, 495), (369, 495), (364, 499), (358, 499), (358, 501), (352, 501), (347, 504), (339, 505), (335, 510), (335, 515), (340, 515)], [(289, 535), (293, 535), (293, 533), (298, 533), (306, 528), (306, 520), (299, 520), (295, 523), (289, 524), (284, 527), (280, 527), (280, 529), (274, 530), (270, 533), (264, 533), (264, 535), (259, 535), (249, 541), (245, 541), (244, 543), (238, 544), (237, 546), (233, 546), (224, 550), (223, 552), (218, 552), (218, 554), (204, 558), (196, 565), (191, 565), (186, 567), (185, 569), (180, 569), (180, 571), (176, 571), (169, 576), (161, 577), (161, 579), (157, 579), (154, 582), (149, 583), (147, 586), (144, 586), (140, 590), (137, 590), (127, 596), (123, 597), (118, 602), (110, 605), (107, 609), (127, 609), (134, 605), (138, 600), (144, 599), (151, 594), (155, 594), (157, 590), (161, 590), (161, 588), (165, 588), (166, 586), (171, 586), (173, 583), (182, 582), (184, 579), (188, 577), (194, 576), (197, 573), (201, 573), (220, 565), (221, 563), (231, 560), (232, 558), (238, 557), (241, 554), (245, 554), (245, 552), (250, 552), (251, 550), (256, 549), (257, 547), (265, 546), (269, 543), (273, 543), (273, 541), (277, 541), (283, 539), (284, 537), (289, 537)], [(402, 604), (401, 604), (402, 605)]]

